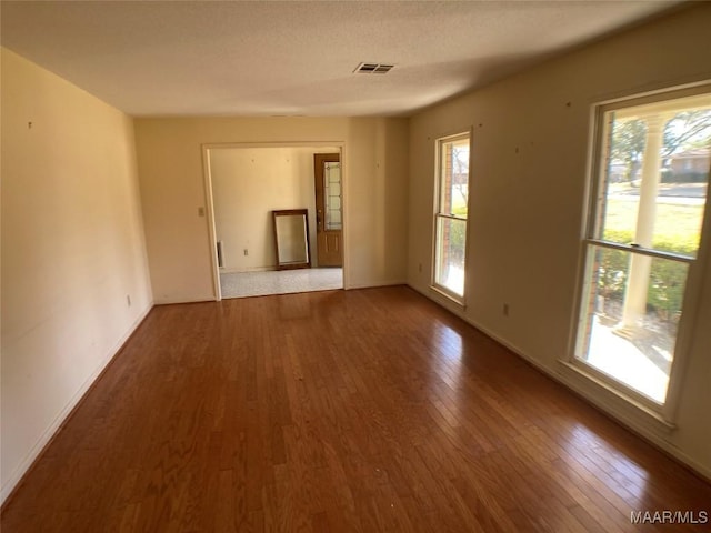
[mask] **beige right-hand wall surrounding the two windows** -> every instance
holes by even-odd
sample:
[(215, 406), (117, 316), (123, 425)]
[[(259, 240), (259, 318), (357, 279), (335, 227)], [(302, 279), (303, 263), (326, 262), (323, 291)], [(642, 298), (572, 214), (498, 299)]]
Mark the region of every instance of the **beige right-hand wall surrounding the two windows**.
[(675, 431), (664, 433), (613, 394), (567, 373), (559, 359), (568, 355), (575, 315), (591, 104), (711, 78), (709, 27), (711, 4), (699, 6), (412, 118), (408, 275), (412, 286), (438, 299), (429, 289), (433, 141), (473, 128), (468, 305), (461, 314), (705, 475), (711, 329), (701, 324), (711, 324), (709, 261), (701, 265), (707, 284)]

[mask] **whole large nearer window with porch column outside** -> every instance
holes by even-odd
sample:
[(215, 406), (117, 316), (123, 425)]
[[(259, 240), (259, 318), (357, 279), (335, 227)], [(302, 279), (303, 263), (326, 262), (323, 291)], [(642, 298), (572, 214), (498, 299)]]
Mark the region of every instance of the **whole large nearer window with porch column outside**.
[(598, 108), (593, 201), (573, 363), (662, 412), (701, 243), (711, 148), (709, 86)]

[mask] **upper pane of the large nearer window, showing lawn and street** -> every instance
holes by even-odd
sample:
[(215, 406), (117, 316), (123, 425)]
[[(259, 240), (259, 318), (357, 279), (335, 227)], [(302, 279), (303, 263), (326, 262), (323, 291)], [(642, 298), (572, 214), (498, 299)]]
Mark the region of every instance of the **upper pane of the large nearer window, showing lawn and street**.
[(711, 168), (711, 109), (699, 107), (698, 98), (670, 100), (667, 109), (654, 103), (604, 114), (593, 238), (695, 257)]

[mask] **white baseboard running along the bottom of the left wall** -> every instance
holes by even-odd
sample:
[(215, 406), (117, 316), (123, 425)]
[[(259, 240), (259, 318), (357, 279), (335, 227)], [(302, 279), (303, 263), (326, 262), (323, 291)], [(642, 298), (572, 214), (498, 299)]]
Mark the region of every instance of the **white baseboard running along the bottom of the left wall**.
[(54, 418), (52, 423), (42, 432), (41, 436), (34, 443), (32, 449), (28, 452), (20, 464), (14, 469), (12, 474), (8, 477), (2, 489), (0, 489), (0, 505), (4, 503), (12, 491), (18, 486), (18, 483), (22, 481), (24, 474), (30, 470), (34, 461), (40, 456), (44, 447), (50, 443), (52, 438), (57, 434), (59, 429), (63, 425), (67, 416), (72, 412), (77, 404), (81, 401), (83, 395), (89, 391), (97, 378), (109, 365), (113, 358), (119, 353), (126, 341), (133, 334), (137, 328), (143, 322), (150, 310), (153, 308), (153, 302), (150, 302), (139, 316), (133, 321), (128, 331), (121, 335), (121, 338), (113, 344), (107, 355), (101, 360), (97, 368), (91, 372), (89, 378), (82, 383), (79, 390), (73, 394), (69, 402), (62, 408), (59, 414)]

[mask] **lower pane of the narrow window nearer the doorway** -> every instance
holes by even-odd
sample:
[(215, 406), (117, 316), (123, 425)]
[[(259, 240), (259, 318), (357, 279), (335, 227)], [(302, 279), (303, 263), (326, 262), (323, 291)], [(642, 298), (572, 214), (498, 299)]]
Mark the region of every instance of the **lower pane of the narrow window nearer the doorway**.
[(437, 217), (434, 282), (454, 294), (464, 295), (467, 221)]

